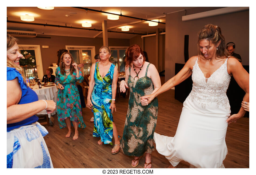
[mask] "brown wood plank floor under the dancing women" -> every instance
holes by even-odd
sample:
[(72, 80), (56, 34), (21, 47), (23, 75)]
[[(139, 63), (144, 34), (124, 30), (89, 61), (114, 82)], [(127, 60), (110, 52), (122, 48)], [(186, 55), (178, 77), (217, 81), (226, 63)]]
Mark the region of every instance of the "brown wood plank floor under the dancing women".
[[(161, 80), (163, 81), (163, 77)], [(174, 99), (174, 90), (169, 90), (158, 96), (159, 112), (155, 132), (167, 136), (174, 136), (182, 103)], [(120, 138), (123, 135), (124, 121), (127, 113), (128, 97), (121, 96), (116, 103), (117, 111), (113, 113), (114, 122)], [(54, 168), (132, 168), (132, 157), (121, 151), (111, 154), (111, 145), (99, 146), (99, 138), (92, 136), (93, 123), (90, 123), (92, 112), (88, 108), (82, 110), (85, 129), (79, 128), (79, 138), (72, 140), (65, 138), (67, 128), (60, 129), (57, 115), (54, 115), (54, 125), (47, 127), (49, 134), (44, 137), (48, 146)], [(74, 128), (73, 128), (74, 129)], [(119, 138), (119, 139), (120, 139)], [(249, 168), (249, 118), (241, 118), (231, 123), (227, 129), (226, 144), (228, 154), (223, 164), (226, 168)], [(154, 145), (155, 146), (155, 145)], [(152, 153), (152, 168), (167, 168), (170, 163), (157, 151)], [(136, 168), (143, 168), (145, 156), (140, 159)], [(188, 168), (187, 162), (180, 162), (177, 168)]]

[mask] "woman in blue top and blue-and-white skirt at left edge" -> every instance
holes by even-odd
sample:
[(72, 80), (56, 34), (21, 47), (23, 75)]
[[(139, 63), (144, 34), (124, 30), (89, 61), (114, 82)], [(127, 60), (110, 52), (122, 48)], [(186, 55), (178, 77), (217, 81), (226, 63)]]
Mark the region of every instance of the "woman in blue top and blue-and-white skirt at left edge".
[(44, 141), (48, 131), (35, 115), (46, 109), (52, 113), (53, 100), (38, 100), (37, 94), (26, 85), (19, 65), (23, 57), (17, 40), (7, 35), (7, 168), (53, 168)]

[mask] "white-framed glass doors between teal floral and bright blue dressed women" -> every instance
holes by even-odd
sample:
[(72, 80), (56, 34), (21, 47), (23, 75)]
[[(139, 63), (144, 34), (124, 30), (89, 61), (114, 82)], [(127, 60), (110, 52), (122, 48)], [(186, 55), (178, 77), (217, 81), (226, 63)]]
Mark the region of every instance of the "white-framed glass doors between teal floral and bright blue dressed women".
[(84, 63), (84, 67), (81, 68), (83, 75), (90, 74), (92, 63), (95, 62), (95, 46), (66, 45), (66, 49), (71, 53), (74, 62)]

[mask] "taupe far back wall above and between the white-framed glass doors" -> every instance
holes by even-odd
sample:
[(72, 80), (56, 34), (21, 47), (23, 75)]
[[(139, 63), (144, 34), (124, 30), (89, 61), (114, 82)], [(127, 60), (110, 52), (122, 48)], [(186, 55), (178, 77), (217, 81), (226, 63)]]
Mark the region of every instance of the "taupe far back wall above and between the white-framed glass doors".
[[(103, 45), (102, 38), (80, 38), (65, 36), (46, 36), (50, 38), (24, 38), (19, 39), (18, 44), (40, 45), (41, 57), (43, 63), (43, 72), (52, 63), (57, 62), (57, 50), (64, 48), (66, 45), (88, 45), (95, 46), (95, 53), (99, 53), (99, 48)], [(129, 39), (113, 39), (109, 38), (109, 46), (129, 46)], [(42, 45), (48, 45), (49, 48), (42, 48)]]

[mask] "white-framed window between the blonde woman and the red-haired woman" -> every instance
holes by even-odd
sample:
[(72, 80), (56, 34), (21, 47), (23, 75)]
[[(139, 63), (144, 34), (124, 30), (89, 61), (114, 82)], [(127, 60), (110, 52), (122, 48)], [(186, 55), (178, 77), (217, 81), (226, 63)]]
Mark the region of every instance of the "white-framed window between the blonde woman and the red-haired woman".
[(114, 57), (113, 64), (117, 66), (118, 72), (124, 72), (125, 63), (125, 51), (128, 47), (109, 47), (111, 55)]

